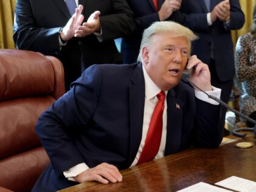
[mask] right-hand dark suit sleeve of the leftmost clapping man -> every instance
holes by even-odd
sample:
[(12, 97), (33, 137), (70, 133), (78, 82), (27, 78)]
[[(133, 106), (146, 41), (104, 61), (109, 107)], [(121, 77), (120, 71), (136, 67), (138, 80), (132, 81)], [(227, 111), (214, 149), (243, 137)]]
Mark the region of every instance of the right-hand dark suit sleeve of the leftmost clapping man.
[(135, 29), (132, 10), (124, 0), (112, 0), (110, 15), (100, 16), (103, 41), (129, 35)]

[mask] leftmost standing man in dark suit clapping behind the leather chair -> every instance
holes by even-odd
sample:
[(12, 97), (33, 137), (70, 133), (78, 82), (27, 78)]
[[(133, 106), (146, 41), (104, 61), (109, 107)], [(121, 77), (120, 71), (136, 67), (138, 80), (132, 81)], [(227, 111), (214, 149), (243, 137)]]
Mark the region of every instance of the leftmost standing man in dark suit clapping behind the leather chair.
[(73, 15), (65, 0), (16, 1), (16, 47), (58, 57), (65, 69), (66, 90), (94, 63), (121, 63), (114, 39), (135, 28), (126, 1), (76, 0), (78, 4), (82, 7)]

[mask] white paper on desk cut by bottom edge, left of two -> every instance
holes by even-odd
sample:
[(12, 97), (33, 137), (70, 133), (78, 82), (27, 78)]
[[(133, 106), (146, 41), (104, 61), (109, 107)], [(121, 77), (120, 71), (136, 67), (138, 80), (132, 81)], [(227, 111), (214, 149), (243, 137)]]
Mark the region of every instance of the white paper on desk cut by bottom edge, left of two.
[(210, 185), (210, 184), (207, 184), (204, 182), (199, 182), (199, 183), (191, 185), (190, 187), (187, 187), (187, 188), (177, 191), (177, 192), (205, 192), (205, 191), (207, 191), (207, 192), (227, 192), (229, 190), (215, 187), (213, 185)]

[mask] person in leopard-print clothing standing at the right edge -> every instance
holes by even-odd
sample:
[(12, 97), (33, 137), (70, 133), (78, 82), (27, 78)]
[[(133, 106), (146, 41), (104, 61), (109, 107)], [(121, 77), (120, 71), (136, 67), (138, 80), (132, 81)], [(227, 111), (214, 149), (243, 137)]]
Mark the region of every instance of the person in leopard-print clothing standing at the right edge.
[[(241, 35), (236, 43), (234, 82), (240, 91), (240, 112), (256, 120), (256, 4), (253, 16), (250, 32)], [(254, 127), (254, 124), (247, 121), (247, 126)]]

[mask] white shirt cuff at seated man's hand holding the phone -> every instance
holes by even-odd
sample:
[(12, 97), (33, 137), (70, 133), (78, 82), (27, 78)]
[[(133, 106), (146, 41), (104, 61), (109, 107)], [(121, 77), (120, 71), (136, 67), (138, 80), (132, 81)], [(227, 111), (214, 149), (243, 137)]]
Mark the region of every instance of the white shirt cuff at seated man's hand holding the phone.
[[(220, 88), (216, 88), (212, 86), (212, 91), (205, 91), (207, 94), (211, 94), (212, 96), (215, 96), (216, 98), (220, 99), (221, 98), (221, 89)], [(202, 91), (196, 91), (194, 90), (194, 94), (196, 96), (197, 99), (200, 99), (202, 101), (208, 102), (209, 104), (213, 104), (213, 105), (219, 105), (219, 102), (208, 98), (207, 94), (205, 94)]]

